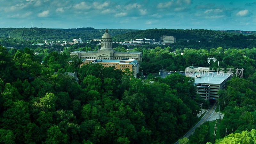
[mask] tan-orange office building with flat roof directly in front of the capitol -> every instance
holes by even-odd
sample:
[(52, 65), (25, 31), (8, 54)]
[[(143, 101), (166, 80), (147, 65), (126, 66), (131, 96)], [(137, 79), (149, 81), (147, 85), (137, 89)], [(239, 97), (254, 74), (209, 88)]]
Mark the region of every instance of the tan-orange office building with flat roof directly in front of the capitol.
[(133, 71), (133, 76), (137, 77), (139, 73), (139, 62), (134, 59), (122, 59), (122, 60), (97, 60), (97, 59), (87, 59), (83, 60), (83, 63), (80, 65), (82, 67), (84, 64), (89, 63), (100, 63), (104, 67), (115, 66), (115, 69), (120, 69), (124, 71), (126, 68), (129, 68), (130, 71)]

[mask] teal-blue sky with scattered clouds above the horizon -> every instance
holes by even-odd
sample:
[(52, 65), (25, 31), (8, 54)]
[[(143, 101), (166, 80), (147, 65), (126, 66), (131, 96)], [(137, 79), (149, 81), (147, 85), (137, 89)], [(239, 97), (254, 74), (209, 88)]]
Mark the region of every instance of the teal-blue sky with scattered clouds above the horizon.
[(0, 0), (0, 28), (256, 31), (256, 0)]

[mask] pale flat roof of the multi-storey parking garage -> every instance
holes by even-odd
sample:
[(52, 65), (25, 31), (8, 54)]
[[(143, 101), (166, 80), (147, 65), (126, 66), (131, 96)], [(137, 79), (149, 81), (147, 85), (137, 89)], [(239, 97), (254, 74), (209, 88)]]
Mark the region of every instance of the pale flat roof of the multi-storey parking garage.
[[(190, 77), (196, 77), (196, 76), (198, 77), (199, 75), (201, 76), (201, 78), (195, 78), (195, 84), (199, 84), (199, 83), (221, 84), (223, 81), (225, 81), (232, 74), (230, 74), (230, 73), (220, 73), (220, 72), (218, 72), (218, 73), (217, 72), (209, 72), (209, 73), (194, 73), (194, 74), (191, 74), (189, 76)], [(205, 79), (205, 82), (204, 82), (204, 79)]]

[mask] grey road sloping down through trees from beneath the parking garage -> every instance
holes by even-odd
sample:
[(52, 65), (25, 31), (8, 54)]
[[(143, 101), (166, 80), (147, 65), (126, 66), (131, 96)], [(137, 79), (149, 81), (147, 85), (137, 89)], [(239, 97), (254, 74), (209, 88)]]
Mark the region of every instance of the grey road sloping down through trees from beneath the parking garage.
[[(217, 108), (217, 105), (215, 103), (213, 104), (213, 106), (210, 106), (210, 108), (207, 110), (203, 118), (192, 129), (190, 129), (182, 138), (184, 137), (188, 138), (190, 134), (192, 134), (199, 125), (203, 124), (204, 122), (207, 122), (211, 118), (216, 108)], [(178, 143), (179, 142), (177, 141), (174, 144), (178, 144)]]

